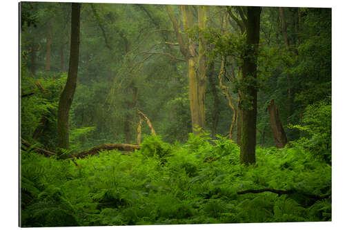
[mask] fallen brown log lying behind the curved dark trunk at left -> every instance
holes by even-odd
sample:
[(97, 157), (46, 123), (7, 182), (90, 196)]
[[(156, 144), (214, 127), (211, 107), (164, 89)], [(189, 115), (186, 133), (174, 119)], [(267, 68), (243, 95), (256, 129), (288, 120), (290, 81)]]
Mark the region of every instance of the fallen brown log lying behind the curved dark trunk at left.
[[(57, 155), (57, 153), (53, 153), (52, 151), (48, 151), (48, 150), (45, 150), (43, 148), (38, 148), (36, 146), (33, 146), (32, 144), (30, 144), (26, 140), (23, 140), (23, 138), (21, 138), (21, 144), (23, 144), (23, 146), (26, 146), (28, 148), (32, 147), (32, 149), (34, 151), (36, 151), (37, 153), (41, 153), (45, 157), (51, 157), (52, 155)], [(108, 150), (108, 151), (118, 150), (118, 151), (125, 151), (125, 152), (133, 152), (136, 149), (137, 150), (140, 149), (140, 146), (137, 144), (101, 144), (101, 145), (96, 146), (94, 148), (90, 148), (88, 150), (69, 155), (66, 158), (83, 158), (83, 157), (86, 157), (88, 155), (96, 155), (100, 151), (105, 151), (105, 150)]]

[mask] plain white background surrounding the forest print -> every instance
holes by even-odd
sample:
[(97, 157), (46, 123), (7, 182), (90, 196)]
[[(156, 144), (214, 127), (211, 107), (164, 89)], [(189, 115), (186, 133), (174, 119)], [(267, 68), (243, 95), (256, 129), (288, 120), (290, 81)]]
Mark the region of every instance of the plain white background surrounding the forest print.
[[(88, 227), (92, 229), (342, 229), (344, 224), (344, 2), (343, 1), (249, 1), (249, 0), (132, 0), (132, 1), (79, 1), (99, 3), (159, 3), (233, 6), (300, 6), (333, 8), (333, 221), (270, 224), (195, 224), (135, 227)], [(63, 1), (71, 2), (71, 1)], [(258, 5), (259, 4), (259, 5)], [(18, 1), (1, 1), (1, 222), (3, 229), (18, 227)], [(38, 228), (33, 228), (38, 229)], [(42, 229), (42, 228), (40, 228)], [(43, 228), (46, 229), (46, 228)], [(61, 229), (61, 228), (49, 228)], [(65, 229), (65, 228), (62, 228)], [(67, 229), (67, 228), (66, 228)], [(71, 229), (71, 228), (68, 228)], [(72, 228), (75, 229), (75, 228)]]

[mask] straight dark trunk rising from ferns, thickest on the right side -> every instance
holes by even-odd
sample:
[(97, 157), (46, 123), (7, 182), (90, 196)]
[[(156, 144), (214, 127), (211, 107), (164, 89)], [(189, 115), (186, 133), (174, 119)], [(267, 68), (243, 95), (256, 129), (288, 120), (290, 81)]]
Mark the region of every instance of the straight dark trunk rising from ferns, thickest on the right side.
[(242, 144), (239, 162), (255, 163), (256, 124), (257, 124), (257, 48), (259, 45), (260, 7), (248, 7), (246, 21), (246, 45), (242, 76), (245, 82), (246, 106), (242, 105)]

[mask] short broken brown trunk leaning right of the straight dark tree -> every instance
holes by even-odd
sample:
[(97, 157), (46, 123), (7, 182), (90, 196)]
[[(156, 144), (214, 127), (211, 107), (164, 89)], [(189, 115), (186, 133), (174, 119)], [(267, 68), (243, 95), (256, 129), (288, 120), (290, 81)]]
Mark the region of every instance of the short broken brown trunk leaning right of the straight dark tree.
[(270, 104), (268, 105), (268, 114), (270, 115), (270, 128), (272, 128), (273, 137), (275, 138), (275, 146), (277, 146), (277, 148), (284, 148), (288, 139), (286, 138), (282, 122), (280, 122), (279, 119), (275, 99), (270, 100)]

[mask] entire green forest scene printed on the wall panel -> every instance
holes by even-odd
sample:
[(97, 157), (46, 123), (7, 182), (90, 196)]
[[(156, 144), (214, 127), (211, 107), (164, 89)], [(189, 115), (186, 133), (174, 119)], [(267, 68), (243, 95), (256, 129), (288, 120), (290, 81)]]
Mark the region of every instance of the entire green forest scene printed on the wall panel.
[(20, 227), (332, 220), (331, 8), (19, 17)]

